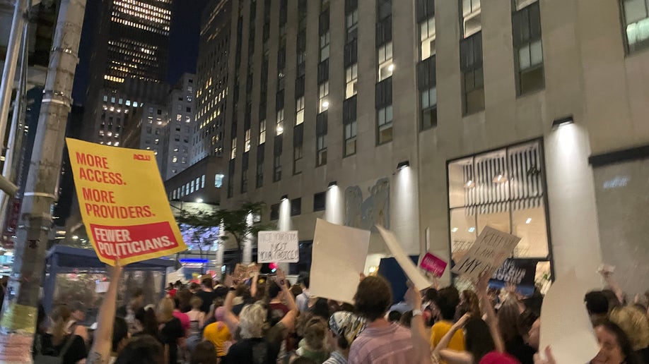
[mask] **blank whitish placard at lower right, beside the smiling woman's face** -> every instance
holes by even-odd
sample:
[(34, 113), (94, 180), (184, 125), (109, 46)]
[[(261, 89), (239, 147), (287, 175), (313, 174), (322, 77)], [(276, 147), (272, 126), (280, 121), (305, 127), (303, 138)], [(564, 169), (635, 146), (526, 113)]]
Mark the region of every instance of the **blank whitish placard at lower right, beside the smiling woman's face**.
[(600, 351), (584, 304), (588, 290), (571, 269), (543, 299), (539, 348), (550, 346), (556, 363), (588, 363)]

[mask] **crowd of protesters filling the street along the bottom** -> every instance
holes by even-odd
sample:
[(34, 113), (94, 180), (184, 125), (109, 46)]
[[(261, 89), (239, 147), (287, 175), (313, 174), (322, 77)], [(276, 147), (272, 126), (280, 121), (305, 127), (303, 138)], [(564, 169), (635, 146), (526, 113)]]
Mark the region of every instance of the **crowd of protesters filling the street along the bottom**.
[[(351, 305), (312, 296), (308, 274), (291, 284), (278, 269), (247, 281), (179, 281), (156, 305), (136, 291), (118, 308), (121, 273), (112, 270), (94, 332), (78, 324), (75, 304), (40, 320), (36, 363), (555, 363), (551, 348), (538, 353), (541, 293), (489, 289), (486, 276), (472, 290), (410, 288), (392, 305), (390, 284), (361, 274)], [(628, 302), (612, 272), (602, 276), (607, 288), (585, 296), (600, 344), (590, 363), (649, 363), (649, 294)]]

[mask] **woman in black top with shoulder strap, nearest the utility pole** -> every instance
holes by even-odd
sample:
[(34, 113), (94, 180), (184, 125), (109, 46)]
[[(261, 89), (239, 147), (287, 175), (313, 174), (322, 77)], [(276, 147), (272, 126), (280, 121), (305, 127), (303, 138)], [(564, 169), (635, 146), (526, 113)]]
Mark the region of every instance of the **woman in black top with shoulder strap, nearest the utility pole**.
[(68, 305), (57, 305), (49, 313), (49, 327), (40, 336), (40, 348), (35, 356), (58, 356), (64, 364), (74, 364), (86, 358), (86, 343), (83, 337), (70, 334), (67, 324), (72, 315)]

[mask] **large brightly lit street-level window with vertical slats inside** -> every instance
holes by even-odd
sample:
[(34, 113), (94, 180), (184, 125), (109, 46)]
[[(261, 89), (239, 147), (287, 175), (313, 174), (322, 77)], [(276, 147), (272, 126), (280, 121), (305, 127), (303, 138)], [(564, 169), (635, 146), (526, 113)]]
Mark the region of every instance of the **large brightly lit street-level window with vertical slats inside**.
[(542, 168), (539, 142), (448, 164), (453, 259), (470, 248), (485, 226), (520, 236), (514, 257), (548, 257)]

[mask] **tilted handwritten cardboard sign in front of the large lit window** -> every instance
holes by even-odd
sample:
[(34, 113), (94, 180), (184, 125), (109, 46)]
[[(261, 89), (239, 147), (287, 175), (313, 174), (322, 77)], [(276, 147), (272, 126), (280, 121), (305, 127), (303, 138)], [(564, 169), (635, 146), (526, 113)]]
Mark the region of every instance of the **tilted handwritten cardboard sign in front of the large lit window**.
[(469, 251), (455, 263), (451, 272), (474, 281), (477, 281), (482, 272), (491, 275), (511, 255), (519, 241), (518, 236), (485, 226)]

